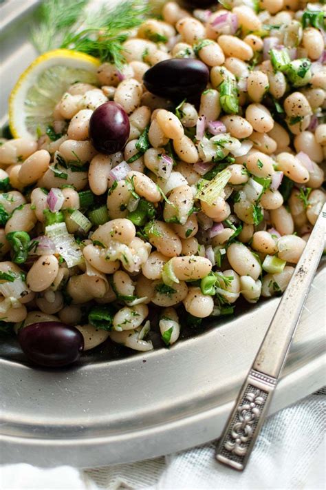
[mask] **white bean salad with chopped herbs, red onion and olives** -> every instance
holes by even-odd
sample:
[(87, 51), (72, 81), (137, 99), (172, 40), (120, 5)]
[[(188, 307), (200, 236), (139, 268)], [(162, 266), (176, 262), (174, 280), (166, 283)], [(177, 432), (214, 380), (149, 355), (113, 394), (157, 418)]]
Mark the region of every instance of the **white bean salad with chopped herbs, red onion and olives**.
[(1, 142), (0, 319), (27, 356), (150, 351), (285, 290), (325, 201), (324, 17), (168, 1), (46, 134)]

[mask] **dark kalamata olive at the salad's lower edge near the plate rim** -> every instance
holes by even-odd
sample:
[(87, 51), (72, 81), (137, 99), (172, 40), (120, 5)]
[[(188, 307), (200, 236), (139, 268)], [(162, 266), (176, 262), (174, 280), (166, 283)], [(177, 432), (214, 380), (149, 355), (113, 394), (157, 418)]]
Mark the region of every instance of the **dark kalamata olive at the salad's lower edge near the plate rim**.
[(60, 322), (31, 323), (19, 330), (18, 340), (28, 359), (47, 367), (74, 363), (84, 349), (80, 331)]

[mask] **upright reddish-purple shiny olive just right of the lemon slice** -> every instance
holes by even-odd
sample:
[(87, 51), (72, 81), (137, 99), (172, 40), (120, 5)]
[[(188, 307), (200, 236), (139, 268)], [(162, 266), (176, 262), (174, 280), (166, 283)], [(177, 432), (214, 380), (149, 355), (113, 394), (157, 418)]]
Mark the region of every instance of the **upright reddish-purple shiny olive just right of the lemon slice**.
[(129, 132), (128, 114), (116, 102), (105, 102), (91, 114), (89, 138), (100, 153), (120, 152), (127, 143)]

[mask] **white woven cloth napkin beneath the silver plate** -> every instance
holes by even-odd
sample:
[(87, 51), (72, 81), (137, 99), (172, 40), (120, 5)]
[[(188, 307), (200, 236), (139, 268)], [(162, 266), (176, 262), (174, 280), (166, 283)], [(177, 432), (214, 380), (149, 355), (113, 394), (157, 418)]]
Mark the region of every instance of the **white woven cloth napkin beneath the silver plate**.
[(2, 490), (323, 490), (326, 390), (279, 411), (263, 425), (246, 471), (215, 462), (208, 444), (162, 458), (78, 470), (1, 468)]

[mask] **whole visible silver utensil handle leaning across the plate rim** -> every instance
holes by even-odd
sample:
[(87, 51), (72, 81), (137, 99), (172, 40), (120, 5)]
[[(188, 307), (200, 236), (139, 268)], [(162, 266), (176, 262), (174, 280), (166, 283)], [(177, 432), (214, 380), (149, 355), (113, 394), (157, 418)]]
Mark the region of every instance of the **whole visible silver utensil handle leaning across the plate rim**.
[(245, 469), (279, 380), (324, 248), (326, 204), (261, 343), (219, 441), (216, 458)]

